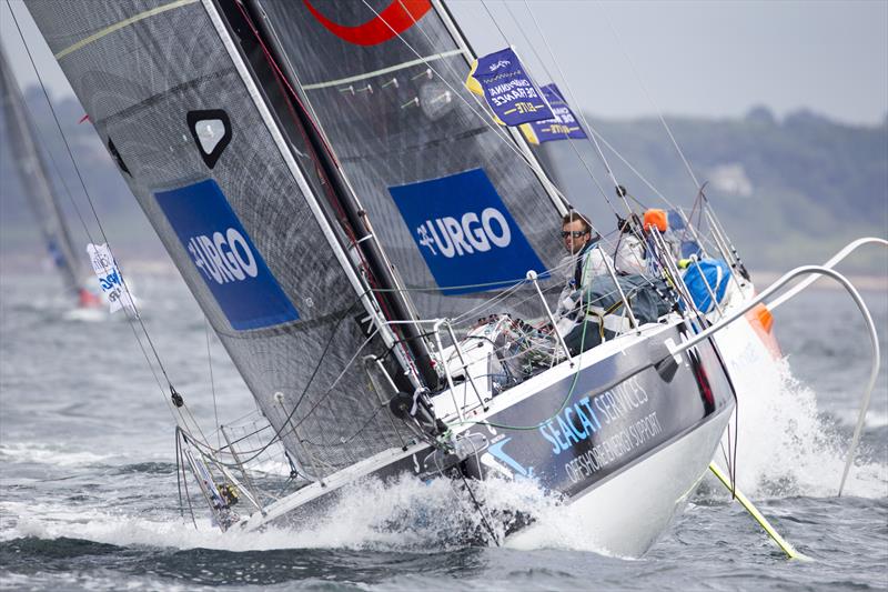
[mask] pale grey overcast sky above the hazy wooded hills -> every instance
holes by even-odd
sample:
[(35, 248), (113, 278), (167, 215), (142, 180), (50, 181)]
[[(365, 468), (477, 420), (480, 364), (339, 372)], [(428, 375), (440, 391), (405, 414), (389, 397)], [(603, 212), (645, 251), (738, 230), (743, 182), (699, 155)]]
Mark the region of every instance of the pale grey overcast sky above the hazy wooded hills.
[[(70, 92), (23, 4), (11, 1), (53, 93)], [(888, 0), (509, 0), (511, 13), (502, 0), (448, 6), (480, 53), (515, 46), (538, 83), (552, 78), (565, 94), (569, 84), (573, 102), (595, 116), (649, 116), (655, 103), (667, 114), (716, 118), (756, 104), (860, 124), (888, 114)], [(33, 82), (7, 0), (0, 33), (19, 80)]]

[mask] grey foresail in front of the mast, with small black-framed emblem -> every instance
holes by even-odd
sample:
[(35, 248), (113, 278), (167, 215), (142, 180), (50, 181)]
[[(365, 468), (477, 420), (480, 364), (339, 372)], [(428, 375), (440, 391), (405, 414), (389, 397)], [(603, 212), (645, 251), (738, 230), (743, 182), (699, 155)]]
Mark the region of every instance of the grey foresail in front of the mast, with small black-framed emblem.
[[(211, 2), (28, 1), (121, 173), (263, 414), (310, 476), (398, 442), (324, 188)], [(363, 348), (363, 349), (362, 349)], [(357, 357), (357, 363), (349, 363)]]

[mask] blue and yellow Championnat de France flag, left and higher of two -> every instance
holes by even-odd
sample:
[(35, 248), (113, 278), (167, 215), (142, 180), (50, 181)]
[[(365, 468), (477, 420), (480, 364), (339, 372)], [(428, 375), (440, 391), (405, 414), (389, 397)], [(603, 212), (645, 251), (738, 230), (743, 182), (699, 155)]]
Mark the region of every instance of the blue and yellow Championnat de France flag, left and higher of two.
[(478, 58), (466, 87), (487, 100), (498, 123), (521, 126), (554, 117), (511, 49)]

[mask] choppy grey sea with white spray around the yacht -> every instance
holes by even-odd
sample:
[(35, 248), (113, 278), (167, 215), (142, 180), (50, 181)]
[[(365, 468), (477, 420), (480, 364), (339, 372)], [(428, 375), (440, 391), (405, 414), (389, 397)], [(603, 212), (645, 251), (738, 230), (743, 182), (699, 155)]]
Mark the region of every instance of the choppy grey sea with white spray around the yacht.
[[(134, 278), (167, 371), (211, 427), (203, 319), (175, 277)], [(640, 560), (602, 554), (551, 500), (497, 485), (556, 535), (528, 549), (472, 548), (450, 533), (474, 513), (446, 486), (351, 491), (335, 519), (223, 535), (179, 515), (172, 420), (122, 319), (70, 314), (53, 278), (0, 283), (0, 586), (7, 589), (748, 590), (888, 588), (888, 385), (882, 369), (846, 495), (836, 496), (869, 345), (842, 292), (776, 312), (788, 368), (750, 369), (740, 401), (739, 484), (815, 559), (788, 562), (714, 481)], [(865, 294), (888, 350), (888, 295)], [(211, 341), (221, 419), (252, 411)], [(885, 358), (885, 357), (884, 357)], [(882, 364), (886, 364), (882, 359)], [(393, 523), (422, 516), (410, 528)], [(638, 515), (638, 520), (645, 520)]]

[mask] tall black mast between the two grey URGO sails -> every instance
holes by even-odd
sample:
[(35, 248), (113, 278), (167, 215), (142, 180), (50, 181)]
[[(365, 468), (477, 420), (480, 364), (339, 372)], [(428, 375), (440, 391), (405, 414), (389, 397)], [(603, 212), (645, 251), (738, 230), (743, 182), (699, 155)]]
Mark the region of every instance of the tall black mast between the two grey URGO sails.
[[(222, 0), (214, 1), (222, 3)], [(238, 2), (238, 0), (234, 0), (234, 2)], [(221, 8), (224, 10), (226, 7), (223, 6)], [(303, 132), (310, 140), (323, 177), (330, 182), (333, 199), (335, 199), (337, 204), (342, 208), (344, 219), (341, 219), (340, 222), (345, 225), (346, 231), (352, 234), (351, 240), (353, 247), (360, 251), (361, 258), (366, 262), (366, 273), (371, 283), (371, 290), (383, 308), (383, 313), (391, 321), (416, 320), (415, 315), (411, 312), (411, 307), (402, 284), (397, 281), (392, 265), (385, 258), (375, 234), (373, 234), (365, 210), (349, 185), (335, 155), (322, 137), (316, 122), (312, 120), (311, 116), (303, 108), (303, 106), (306, 104), (306, 100), (301, 91), (302, 87), (290, 62), (283, 58), (283, 50), (278, 41), (278, 36), (274, 34), (272, 24), (265, 17), (260, 1), (248, 0), (244, 8), (251, 13), (251, 17), (253, 17), (254, 23), (258, 24), (259, 33), (262, 36), (261, 42), (270, 50), (272, 59), (281, 69), (290, 88), (300, 96), (296, 104), (292, 104), (293, 101), (290, 101), (293, 107), (293, 112)], [(236, 7), (224, 10), (224, 12), (229, 19), (236, 18), (240, 14)], [(428, 352), (428, 345), (422, 337), (418, 325), (414, 323), (398, 323), (392, 325), (392, 328), (397, 328), (395, 331), (401, 331), (403, 333), (404, 342), (413, 357), (416, 371), (425, 385), (432, 391), (437, 390), (440, 378), (434, 369)]]

